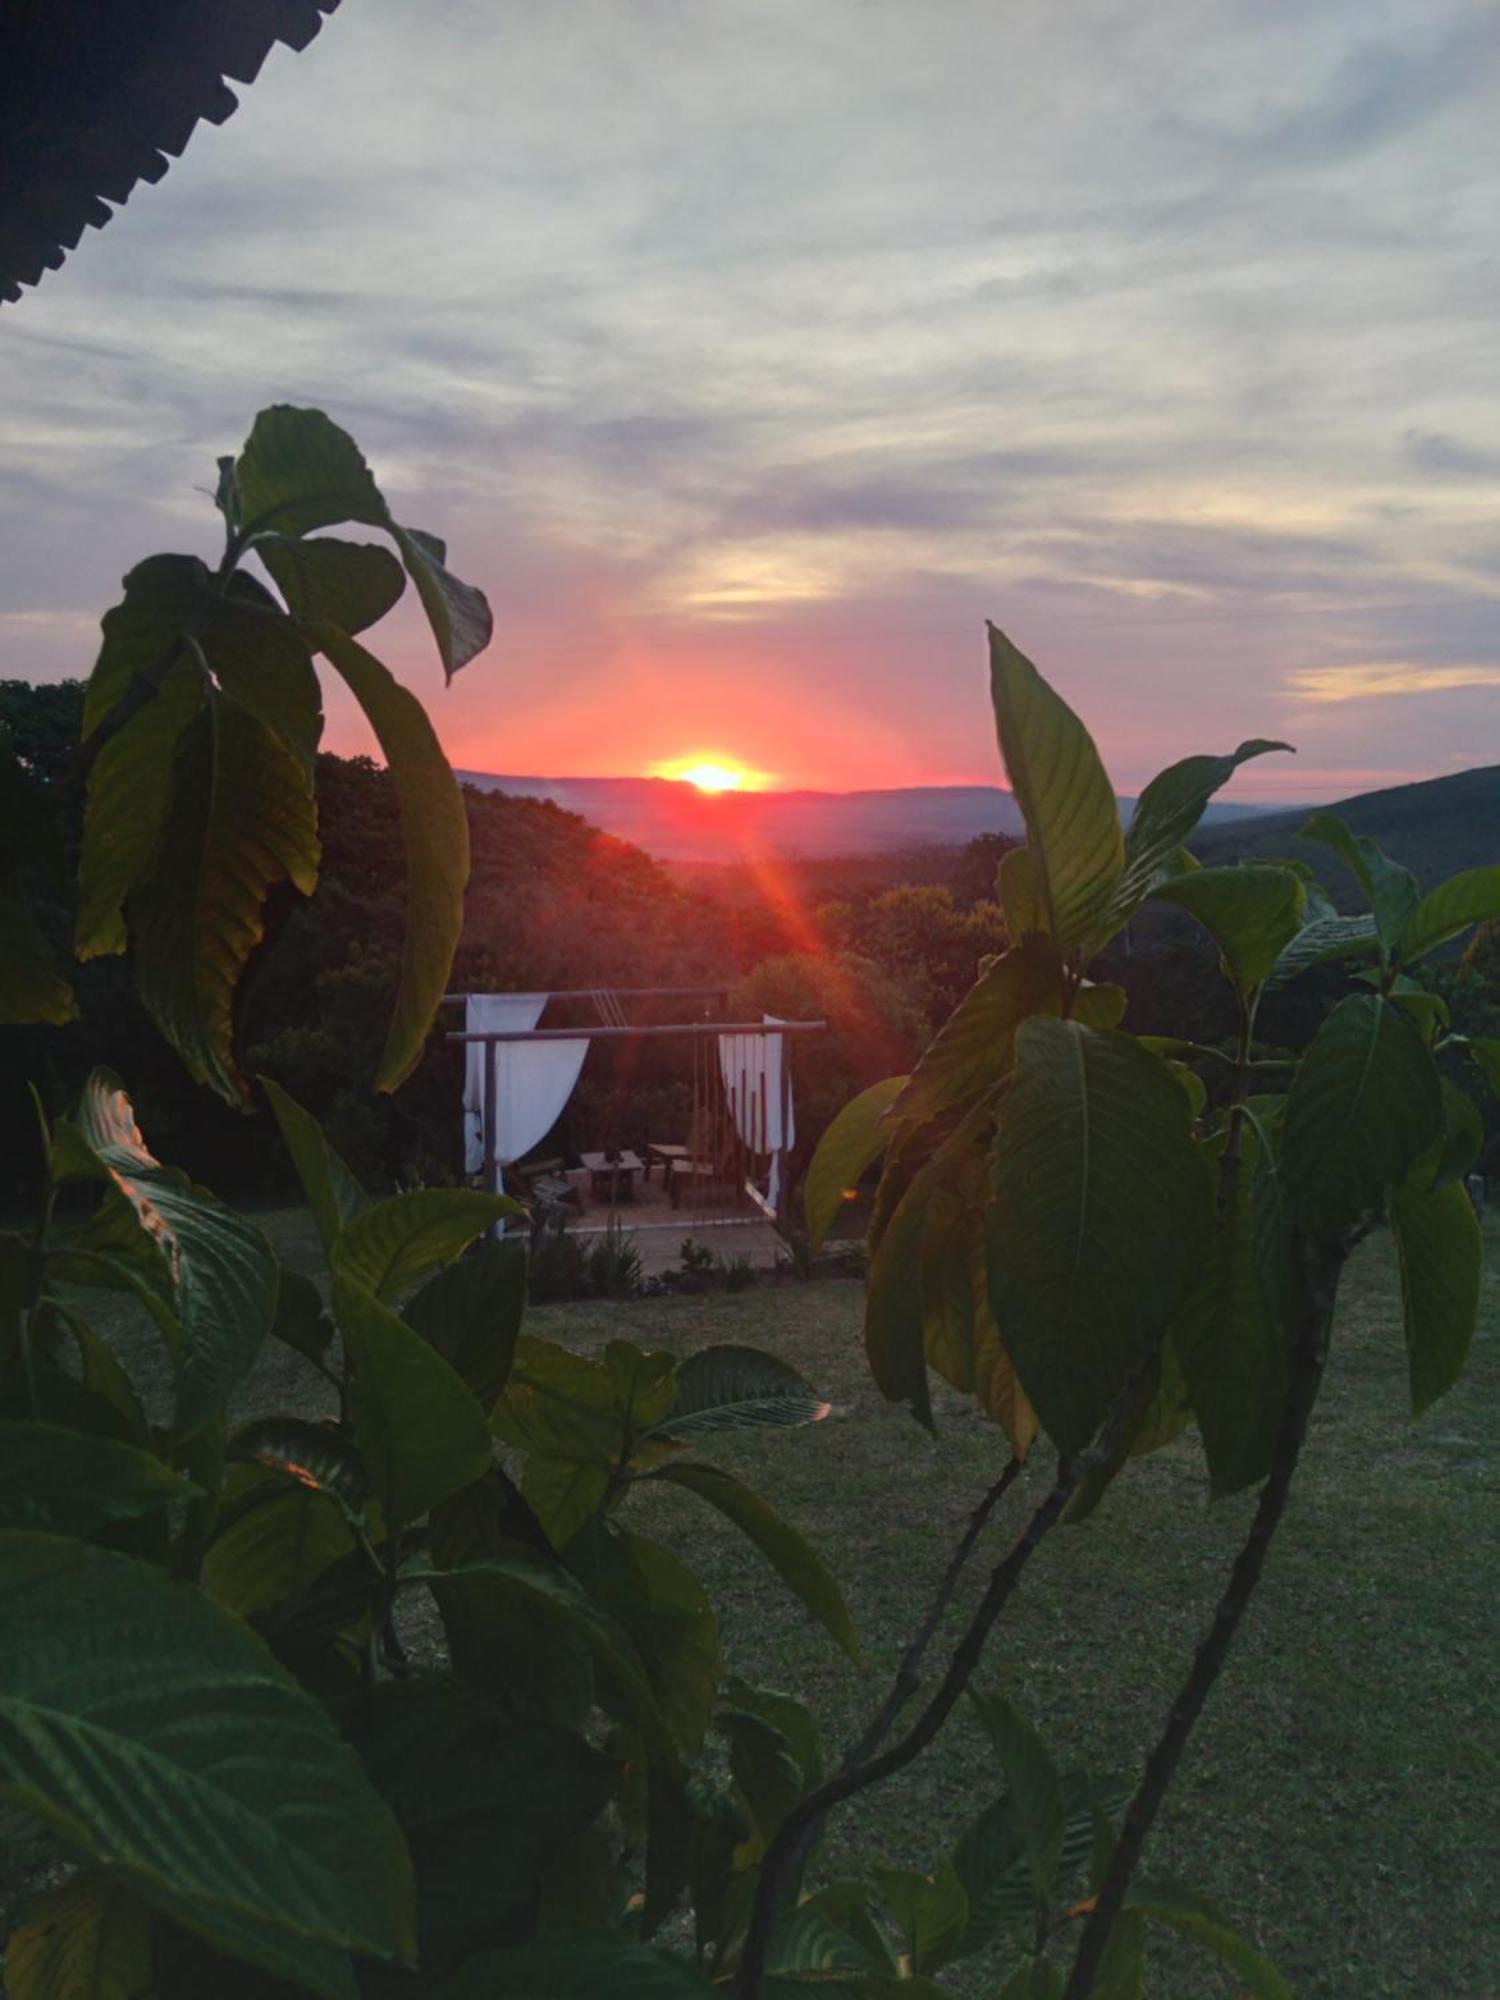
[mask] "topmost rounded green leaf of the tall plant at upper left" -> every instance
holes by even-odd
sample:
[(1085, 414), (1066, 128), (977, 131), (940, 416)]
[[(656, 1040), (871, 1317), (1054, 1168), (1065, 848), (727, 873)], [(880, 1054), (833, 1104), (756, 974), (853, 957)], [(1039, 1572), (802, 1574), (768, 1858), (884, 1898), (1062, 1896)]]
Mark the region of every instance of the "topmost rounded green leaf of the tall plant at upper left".
[(256, 416), (234, 464), (234, 510), (240, 532), (310, 534), (358, 520), (390, 520), (364, 456), (322, 410), (272, 404)]

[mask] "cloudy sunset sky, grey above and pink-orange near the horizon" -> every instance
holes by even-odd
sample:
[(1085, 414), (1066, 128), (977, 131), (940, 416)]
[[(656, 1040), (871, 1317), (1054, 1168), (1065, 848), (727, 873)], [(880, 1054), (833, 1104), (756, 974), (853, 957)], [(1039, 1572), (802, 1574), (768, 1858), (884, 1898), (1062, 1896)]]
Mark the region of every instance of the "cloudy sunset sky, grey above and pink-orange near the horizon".
[(998, 782), (986, 618), (1122, 792), (1492, 762), (1498, 82), (1494, 0), (344, 0), (0, 308), (0, 674), (300, 402), (490, 596), (372, 638), (462, 768)]

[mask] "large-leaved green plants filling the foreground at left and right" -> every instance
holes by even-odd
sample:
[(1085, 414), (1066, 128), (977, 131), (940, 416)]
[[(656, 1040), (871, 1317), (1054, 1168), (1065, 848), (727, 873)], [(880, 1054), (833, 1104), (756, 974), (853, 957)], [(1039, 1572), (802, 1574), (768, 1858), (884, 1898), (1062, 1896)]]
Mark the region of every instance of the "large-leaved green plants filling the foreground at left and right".
[[(306, 886), (312, 868), (314, 646), (376, 718), (398, 718), (398, 786), (434, 748), (352, 638), (396, 564), (304, 536), (336, 520), (388, 530), (450, 666), (478, 612), (314, 412), (262, 416), (220, 506), (220, 576), (158, 558), (106, 620), (80, 948), (128, 940), (188, 1068), (240, 1096), (236, 982), (268, 888)], [(286, 610), (236, 584), (252, 540)], [(748, 1348), (678, 1364), (612, 1342), (584, 1360), (526, 1338), (520, 1252), (488, 1240), (514, 1204), (372, 1202), (268, 1086), (326, 1252), (314, 1286), (164, 1168), (100, 1072), (44, 1124), (34, 1226), (0, 1238), (0, 1786), (74, 1858), (10, 1938), (12, 2000), (810, 1986), (922, 2000), (980, 1952), (1004, 1966), (1004, 2000), (1114, 2000), (1142, 1992), (1148, 1926), (1200, 1942), (1242, 1990), (1286, 1992), (1208, 1904), (1138, 1862), (1286, 1508), (1344, 1260), (1382, 1218), (1414, 1406), (1464, 1364), (1478, 1132), (1446, 1070), (1472, 1058), (1494, 1076), (1500, 1048), (1450, 1034), (1412, 968), (1500, 912), (1500, 868), (1422, 896), (1368, 842), (1314, 822), (1366, 890), (1360, 918), (1294, 866), (1194, 868), (1184, 842), (1206, 800), (1278, 746), (1172, 766), (1122, 832), (1078, 718), (1002, 634), (990, 646), (1030, 836), (1000, 872), (1012, 944), (912, 1074), (836, 1120), (808, 1184), (816, 1238), (884, 1160), (874, 1378), (930, 1422), (936, 1368), (1004, 1440), (862, 1738), (834, 1756), (802, 1702), (736, 1678), (696, 1576), (626, 1524), (642, 1484), (716, 1508), (856, 1654), (828, 1566), (712, 1458), (728, 1428), (826, 1414), (794, 1370)], [(12, 794), (6, 1018), (60, 1020), (68, 988), (16, 866), (46, 860), (44, 826), (24, 782)], [(426, 812), (446, 814), (448, 792), (402, 796), (414, 896), (386, 1082), (428, 1028), (456, 936), (442, 912), (462, 892), (462, 856)], [(1124, 996), (1088, 976), (1146, 898), (1204, 926), (1234, 994), (1214, 1110), (1186, 1060), (1214, 1052), (1122, 1032)], [(1262, 1050), (1260, 996), (1328, 962), (1352, 990), (1306, 1050)], [(170, 1408), (92, 1322), (100, 1290), (160, 1330)], [(302, 1356), (336, 1414), (234, 1422), (268, 1340)], [(1190, 1424), (1214, 1492), (1260, 1500), (1132, 1788), (1060, 1766), (978, 1668), (1050, 1530)], [(930, 1676), (958, 1576), (1038, 1450), (1052, 1484)], [(872, 1864), (808, 1888), (826, 1816), (918, 1756), (964, 1696), (996, 1778), (950, 1850), (924, 1872)]]

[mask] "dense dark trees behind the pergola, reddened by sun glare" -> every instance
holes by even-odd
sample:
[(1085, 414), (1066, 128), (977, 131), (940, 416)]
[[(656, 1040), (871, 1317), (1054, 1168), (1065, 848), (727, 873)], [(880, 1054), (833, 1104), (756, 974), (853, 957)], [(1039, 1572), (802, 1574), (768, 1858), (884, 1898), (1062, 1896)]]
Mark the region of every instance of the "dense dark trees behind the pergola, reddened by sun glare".
[[(0, 682), (0, 728), (42, 778), (70, 850), (80, 830), (74, 746), (82, 686)], [(460, 1174), (460, 1056), (432, 1034), (416, 1074), (376, 1098), (380, 1040), (402, 950), (402, 848), (384, 770), (364, 758), (322, 756), (324, 866), (310, 900), (286, 894), (270, 910), (268, 940), (246, 982), (240, 1048), (250, 1074), (268, 1074), (320, 1116), (334, 1144), (374, 1186), (446, 1182)], [(1008, 842), (984, 836), (962, 850), (880, 858), (754, 862), (744, 868), (668, 870), (640, 848), (544, 800), (466, 790), (472, 872), (454, 990), (594, 986), (728, 988), (740, 1016), (760, 1010), (828, 1020), (830, 1034), (794, 1050), (798, 1156), (864, 1084), (900, 1072), (970, 986), (984, 956), (1004, 946), (994, 902)], [(66, 948), (70, 912), (46, 902)], [(56, 892), (52, 892), (56, 898)], [(1474, 970), (1442, 974), (1476, 1032), (1500, 996), (1494, 946)], [(1144, 1034), (1218, 1042), (1232, 1032), (1214, 954), (1186, 920), (1154, 914), (1118, 940), (1104, 966), (1130, 994)], [(1268, 1040), (1294, 1046), (1312, 1032), (1336, 972), (1268, 994)], [(266, 1120), (246, 1120), (184, 1074), (140, 1010), (128, 968), (94, 960), (78, 976), (80, 1020), (70, 1028), (12, 1028), (0, 1038), (0, 1114), (26, 1132), (26, 1084), (62, 1108), (94, 1064), (130, 1076), (148, 1130), (164, 1154), (242, 1198), (280, 1198), (288, 1168)], [(674, 1000), (640, 1018), (684, 1018), (702, 1004)], [(588, 1024), (588, 1004), (554, 1004), (548, 1020)], [(458, 1026), (454, 1010), (446, 1026)], [(684, 1138), (690, 1052), (682, 1042), (596, 1044), (548, 1150)], [(1208, 1078), (1212, 1082), (1212, 1076)], [(14, 1148), (0, 1198), (26, 1186), (32, 1160)]]

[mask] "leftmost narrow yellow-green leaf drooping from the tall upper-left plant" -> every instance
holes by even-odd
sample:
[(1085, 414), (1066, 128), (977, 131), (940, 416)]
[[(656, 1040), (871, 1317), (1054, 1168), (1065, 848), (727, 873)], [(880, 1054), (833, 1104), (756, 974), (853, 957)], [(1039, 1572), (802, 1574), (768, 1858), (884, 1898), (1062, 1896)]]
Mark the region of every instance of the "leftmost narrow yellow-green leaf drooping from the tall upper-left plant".
[(80, 958), (126, 948), (124, 902), (156, 856), (172, 810), (178, 746), (204, 700), (202, 668), (178, 660), (90, 766), (74, 916)]

